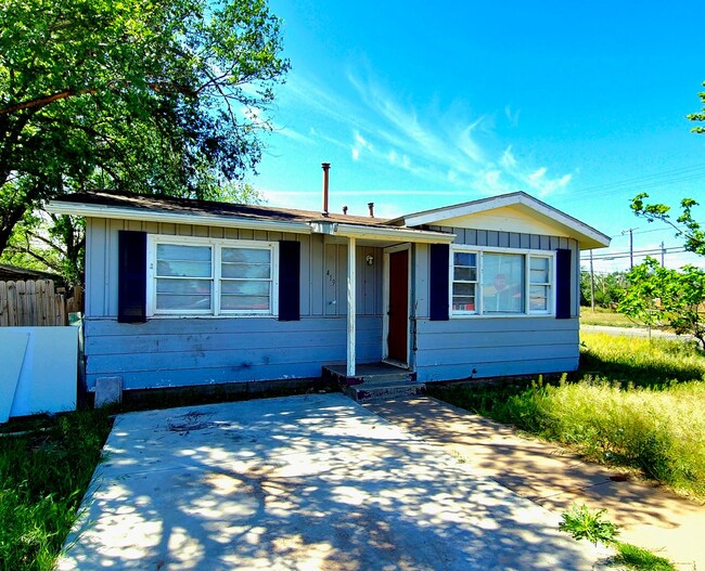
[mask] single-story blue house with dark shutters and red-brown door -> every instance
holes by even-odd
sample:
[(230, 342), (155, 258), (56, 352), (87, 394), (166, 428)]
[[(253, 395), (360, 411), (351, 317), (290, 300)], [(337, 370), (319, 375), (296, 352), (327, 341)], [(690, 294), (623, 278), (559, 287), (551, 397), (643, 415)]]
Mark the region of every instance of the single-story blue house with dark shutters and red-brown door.
[(579, 252), (610, 243), (523, 192), (394, 220), (102, 193), (49, 210), (86, 217), (89, 389), (575, 371)]

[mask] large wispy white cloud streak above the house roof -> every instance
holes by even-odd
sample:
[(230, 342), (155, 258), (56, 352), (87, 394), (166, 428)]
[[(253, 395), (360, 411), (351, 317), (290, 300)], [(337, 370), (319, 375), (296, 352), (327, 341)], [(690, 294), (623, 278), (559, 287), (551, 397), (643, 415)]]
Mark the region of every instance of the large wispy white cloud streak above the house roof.
[[(571, 183), (571, 173), (531, 165), (521, 150), (502, 144), (492, 114), (473, 114), (467, 103), (458, 102), (445, 108), (437, 102), (420, 106), (393, 94), (369, 68), (349, 72), (347, 80), (352, 87), (347, 95), (300, 77), (292, 87), (308, 108), (338, 124), (335, 135), (316, 132), (310, 138), (346, 148), (356, 163), (375, 161), (465, 195), (473, 190), (485, 195), (523, 190), (546, 197)], [(510, 105), (503, 111), (517, 126), (520, 111)], [(349, 133), (347, 140), (341, 139), (341, 129)]]

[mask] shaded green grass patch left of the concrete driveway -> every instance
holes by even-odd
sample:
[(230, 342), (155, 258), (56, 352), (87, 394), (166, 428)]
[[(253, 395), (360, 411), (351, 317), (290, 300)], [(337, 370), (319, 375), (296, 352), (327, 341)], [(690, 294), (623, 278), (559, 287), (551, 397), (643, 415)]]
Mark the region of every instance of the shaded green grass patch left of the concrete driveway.
[[(0, 570), (53, 569), (111, 425), (90, 411), (3, 427)], [(13, 428), (20, 436), (8, 434)]]

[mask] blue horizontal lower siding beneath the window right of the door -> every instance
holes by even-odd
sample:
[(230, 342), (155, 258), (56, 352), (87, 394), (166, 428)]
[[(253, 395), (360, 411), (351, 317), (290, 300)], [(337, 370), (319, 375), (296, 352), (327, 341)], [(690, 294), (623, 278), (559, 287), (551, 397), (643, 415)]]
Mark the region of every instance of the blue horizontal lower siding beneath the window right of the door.
[(559, 373), (578, 366), (578, 320), (416, 321), (420, 381)]

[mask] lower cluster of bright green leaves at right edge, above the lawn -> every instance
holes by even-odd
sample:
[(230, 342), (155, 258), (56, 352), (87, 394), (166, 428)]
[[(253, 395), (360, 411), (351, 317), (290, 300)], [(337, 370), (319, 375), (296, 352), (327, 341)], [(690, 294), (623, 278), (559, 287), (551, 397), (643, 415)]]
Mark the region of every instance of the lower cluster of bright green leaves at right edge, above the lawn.
[(627, 274), (629, 288), (618, 311), (650, 326), (669, 326), (690, 334), (705, 348), (705, 321), (700, 311), (705, 303), (705, 270), (684, 265), (680, 270), (661, 268), (646, 258)]

